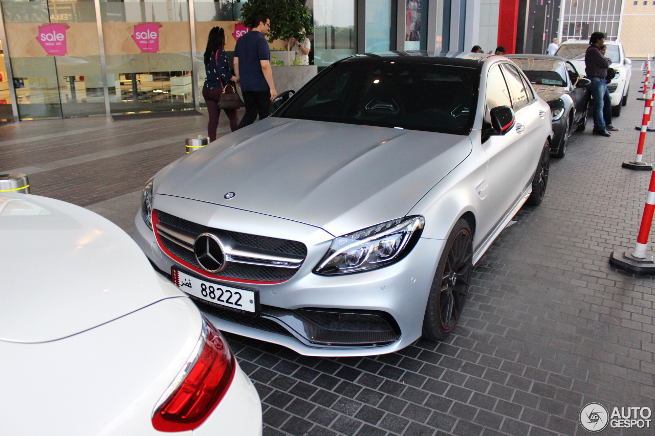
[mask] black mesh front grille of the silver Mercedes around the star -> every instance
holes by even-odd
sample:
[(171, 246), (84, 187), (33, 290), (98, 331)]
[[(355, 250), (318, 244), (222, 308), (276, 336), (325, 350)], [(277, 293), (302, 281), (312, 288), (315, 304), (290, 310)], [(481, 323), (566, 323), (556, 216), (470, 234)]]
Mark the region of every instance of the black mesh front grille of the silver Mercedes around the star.
[[(157, 219), (165, 225), (178, 228), (179, 230), (184, 230), (185, 232), (189, 232), (195, 236), (200, 233), (219, 230), (228, 234), (237, 244), (259, 249), (264, 253), (291, 256), (295, 255), (302, 257), (307, 255), (307, 247), (305, 247), (305, 244), (302, 242), (206, 227), (204, 225), (196, 224), (192, 221), (187, 221), (174, 215), (170, 215), (170, 213), (162, 212), (159, 210), (157, 211)], [(172, 255), (177, 257), (179, 260), (195, 266), (196, 268), (200, 268), (200, 265), (198, 264), (198, 261), (196, 261), (195, 255), (193, 255), (192, 251), (181, 247), (180, 245), (168, 240), (167, 238), (162, 237), (159, 238), (159, 240), (161, 241), (162, 245), (164, 245), (164, 248), (170, 251), (170, 253), (172, 253)], [(284, 282), (284, 280), (289, 280), (291, 277), (293, 277), (296, 271), (297, 269), (293, 268), (280, 268), (276, 266), (263, 266), (245, 263), (228, 263), (227, 266), (225, 266), (225, 269), (217, 273), (216, 276), (228, 279), (233, 278), (238, 280), (252, 280), (253, 282)]]

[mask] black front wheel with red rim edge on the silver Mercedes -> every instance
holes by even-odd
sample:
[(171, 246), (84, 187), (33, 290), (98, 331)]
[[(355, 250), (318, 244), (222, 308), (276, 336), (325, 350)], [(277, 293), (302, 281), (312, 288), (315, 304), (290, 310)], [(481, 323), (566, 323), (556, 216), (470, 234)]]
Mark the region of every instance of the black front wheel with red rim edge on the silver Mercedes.
[(464, 310), (473, 270), (473, 236), (465, 219), (460, 218), (446, 240), (437, 271), (432, 279), (423, 318), (423, 337), (445, 339)]

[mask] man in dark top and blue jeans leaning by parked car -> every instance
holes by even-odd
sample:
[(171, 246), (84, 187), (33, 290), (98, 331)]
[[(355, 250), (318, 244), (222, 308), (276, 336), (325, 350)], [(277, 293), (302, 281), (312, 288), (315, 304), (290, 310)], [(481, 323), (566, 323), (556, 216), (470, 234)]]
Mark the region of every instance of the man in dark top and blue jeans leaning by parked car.
[[(594, 135), (610, 136), (605, 124), (603, 107), (605, 101), (610, 100), (607, 90), (607, 69), (611, 62), (601, 54), (601, 47), (605, 43), (605, 33), (593, 32), (589, 38), (589, 47), (584, 55), (585, 74), (591, 81), (591, 98), (593, 98), (593, 131)], [(610, 106), (611, 107), (611, 106)]]

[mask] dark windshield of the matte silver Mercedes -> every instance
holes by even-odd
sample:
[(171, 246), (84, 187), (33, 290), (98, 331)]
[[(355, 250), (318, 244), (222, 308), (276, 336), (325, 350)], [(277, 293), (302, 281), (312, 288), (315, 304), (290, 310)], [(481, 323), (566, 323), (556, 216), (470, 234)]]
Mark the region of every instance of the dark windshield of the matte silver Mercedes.
[(478, 82), (477, 71), (466, 67), (342, 62), (276, 116), (468, 134)]

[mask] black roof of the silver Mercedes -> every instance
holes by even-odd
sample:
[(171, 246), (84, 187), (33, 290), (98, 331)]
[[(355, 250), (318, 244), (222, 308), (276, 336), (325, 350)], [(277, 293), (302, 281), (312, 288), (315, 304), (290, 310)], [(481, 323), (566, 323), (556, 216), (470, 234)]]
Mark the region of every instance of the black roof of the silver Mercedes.
[(472, 52), (428, 52), (426, 50), (416, 50), (355, 54), (340, 62), (369, 62), (371, 60), (388, 59), (401, 64), (452, 65), (456, 67), (479, 68), (484, 62), (493, 62), (493, 60), (496, 60), (495, 58), (500, 60), (502, 56)]

